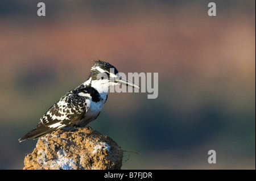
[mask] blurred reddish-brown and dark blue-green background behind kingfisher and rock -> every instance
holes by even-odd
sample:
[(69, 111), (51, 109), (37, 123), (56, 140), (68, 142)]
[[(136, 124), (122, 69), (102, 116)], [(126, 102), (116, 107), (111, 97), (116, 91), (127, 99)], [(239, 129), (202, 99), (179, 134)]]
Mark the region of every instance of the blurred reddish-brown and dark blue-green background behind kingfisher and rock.
[[(255, 169), (255, 1), (0, 2), (0, 169), (22, 169), (34, 128), (92, 60), (159, 73), (159, 95), (110, 93), (90, 127), (122, 169)], [(217, 163), (208, 163), (215, 150)]]

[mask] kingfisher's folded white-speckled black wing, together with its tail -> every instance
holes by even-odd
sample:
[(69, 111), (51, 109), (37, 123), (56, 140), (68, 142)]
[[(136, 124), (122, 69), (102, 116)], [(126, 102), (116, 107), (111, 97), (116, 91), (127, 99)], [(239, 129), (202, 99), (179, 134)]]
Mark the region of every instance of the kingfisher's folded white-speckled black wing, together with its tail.
[(25, 134), (19, 141), (27, 139), (36, 139), (47, 133), (72, 125), (77, 119), (80, 119), (88, 110), (88, 98), (68, 92), (53, 104), (51, 108), (41, 117), (41, 121), (34, 129)]

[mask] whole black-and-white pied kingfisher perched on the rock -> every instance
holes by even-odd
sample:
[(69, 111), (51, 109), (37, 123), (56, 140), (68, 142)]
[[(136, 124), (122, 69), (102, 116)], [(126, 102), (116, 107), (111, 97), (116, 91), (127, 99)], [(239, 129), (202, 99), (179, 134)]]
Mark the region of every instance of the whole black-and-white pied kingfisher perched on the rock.
[(53, 104), (41, 117), (39, 124), (20, 138), (19, 142), (36, 139), (61, 128), (75, 131), (75, 127), (85, 127), (100, 114), (108, 98), (109, 87), (118, 83), (140, 89), (133, 82), (120, 77), (113, 65), (94, 61), (88, 79)]

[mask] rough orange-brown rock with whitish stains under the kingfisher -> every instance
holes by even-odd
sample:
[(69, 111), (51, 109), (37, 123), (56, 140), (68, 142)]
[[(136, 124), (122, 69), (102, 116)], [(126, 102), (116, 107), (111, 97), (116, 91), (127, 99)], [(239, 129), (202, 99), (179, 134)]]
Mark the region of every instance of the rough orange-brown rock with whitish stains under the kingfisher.
[(122, 157), (112, 138), (89, 127), (75, 132), (59, 129), (39, 138), (23, 169), (121, 169)]

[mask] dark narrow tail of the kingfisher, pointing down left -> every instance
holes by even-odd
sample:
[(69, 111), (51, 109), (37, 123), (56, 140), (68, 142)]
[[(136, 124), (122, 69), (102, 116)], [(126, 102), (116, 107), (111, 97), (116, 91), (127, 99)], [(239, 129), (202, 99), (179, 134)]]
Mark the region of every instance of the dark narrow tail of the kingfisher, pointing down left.
[(39, 123), (34, 129), (32, 129), (27, 134), (25, 134), (23, 137), (19, 138), (19, 142), (22, 142), (27, 139), (35, 140), (35, 139), (40, 138), (40, 137), (46, 135), (47, 133), (50, 133), (55, 130), (56, 130), (56, 128), (46, 127), (42, 123)]

